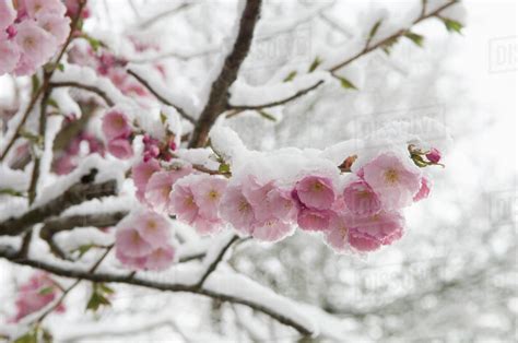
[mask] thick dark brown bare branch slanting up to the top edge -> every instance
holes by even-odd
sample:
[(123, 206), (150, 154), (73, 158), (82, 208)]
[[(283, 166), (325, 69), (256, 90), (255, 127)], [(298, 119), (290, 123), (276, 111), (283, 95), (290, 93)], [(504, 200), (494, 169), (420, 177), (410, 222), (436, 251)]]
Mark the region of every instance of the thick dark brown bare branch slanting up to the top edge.
[(248, 0), (239, 22), (239, 32), (231, 54), (226, 57), (220, 75), (212, 83), (209, 100), (201, 111), (192, 132), (189, 147), (203, 146), (209, 131), (217, 117), (225, 111), (228, 88), (237, 78), (239, 68), (245, 60), (254, 38), (254, 29), (259, 19), (261, 0)]

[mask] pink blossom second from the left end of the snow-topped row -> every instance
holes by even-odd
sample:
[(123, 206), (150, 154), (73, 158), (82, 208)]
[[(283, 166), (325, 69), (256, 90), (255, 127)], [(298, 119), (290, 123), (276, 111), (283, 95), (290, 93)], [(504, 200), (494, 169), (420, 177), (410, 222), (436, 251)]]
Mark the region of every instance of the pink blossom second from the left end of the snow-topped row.
[(154, 173), (145, 187), (145, 200), (155, 211), (170, 211), (172, 203), (169, 194), (173, 190), (173, 186), (177, 180), (191, 173), (192, 167), (190, 165), (167, 172)]

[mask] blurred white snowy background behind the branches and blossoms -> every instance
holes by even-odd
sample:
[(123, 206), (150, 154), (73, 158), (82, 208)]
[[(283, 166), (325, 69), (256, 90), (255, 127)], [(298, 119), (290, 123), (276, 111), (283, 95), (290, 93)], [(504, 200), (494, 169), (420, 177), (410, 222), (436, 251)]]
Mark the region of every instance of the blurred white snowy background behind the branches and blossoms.
[[(128, 38), (160, 47), (130, 60), (150, 73), (161, 66), (167, 87), (186, 94), (198, 92), (236, 15), (235, 1), (90, 2), (92, 36), (121, 55)], [(323, 149), (393, 119), (432, 117), (448, 127), (446, 168), (434, 172), (432, 196), (407, 211), (407, 233), (396, 245), (358, 259), (298, 232), (275, 245), (243, 244), (231, 259), (275, 292), (341, 318), (351, 333), (343, 342), (517, 340), (517, 3), (462, 2), (462, 34), (432, 19), (415, 28), (425, 36), (423, 48), (402, 40), (389, 56), (375, 51), (345, 68), (358, 91), (326, 85), (272, 109), (275, 120), (257, 113), (228, 119), (249, 147), (264, 151)], [(373, 13), (385, 9), (404, 25), (420, 3), (267, 0), (240, 78), (261, 85), (307, 70), (316, 57), (326, 62), (369, 29)], [(24, 82), (0, 78), (0, 114), (15, 108), (16, 83)], [(427, 139), (442, 145), (446, 135)], [(28, 272), (0, 261), (0, 318), (12, 314), (16, 284)], [(85, 315), (80, 304), (87, 292), (76, 291), (70, 310), (48, 319), (58, 341), (295, 339), (248, 309), (126, 286), (117, 287), (111, 308)]]

